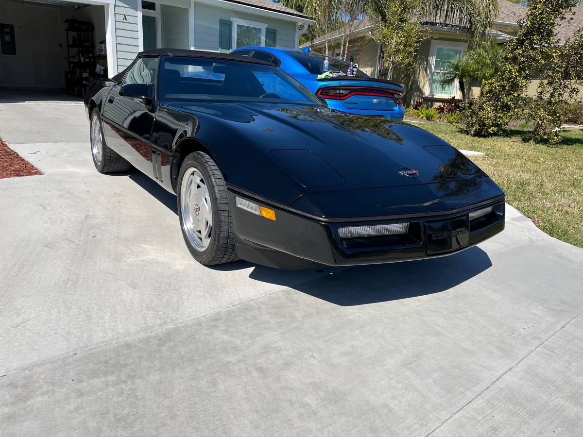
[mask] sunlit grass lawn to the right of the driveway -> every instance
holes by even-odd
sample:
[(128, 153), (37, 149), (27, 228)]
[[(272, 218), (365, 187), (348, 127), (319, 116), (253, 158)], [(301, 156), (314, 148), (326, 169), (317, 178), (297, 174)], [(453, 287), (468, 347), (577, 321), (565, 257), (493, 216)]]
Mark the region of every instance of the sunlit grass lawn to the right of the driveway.
[(474, 138), (445, 123), (415, 123), (472, 157), (505, 191), (506, 200), (547, 234), (583, 247), (583, 131), (567, 131), (559, 147), (506, 137)]

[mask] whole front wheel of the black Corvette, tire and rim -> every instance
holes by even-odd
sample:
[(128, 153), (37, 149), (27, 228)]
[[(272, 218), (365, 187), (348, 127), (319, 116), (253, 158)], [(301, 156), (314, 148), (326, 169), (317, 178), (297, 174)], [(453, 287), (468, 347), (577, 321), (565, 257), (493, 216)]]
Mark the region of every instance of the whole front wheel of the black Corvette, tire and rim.
[(223, 174), (208, 154), (189, 154), (178, 175), (178, 216), (182, 237), (203, 265), (237, 259), (233, 220)]

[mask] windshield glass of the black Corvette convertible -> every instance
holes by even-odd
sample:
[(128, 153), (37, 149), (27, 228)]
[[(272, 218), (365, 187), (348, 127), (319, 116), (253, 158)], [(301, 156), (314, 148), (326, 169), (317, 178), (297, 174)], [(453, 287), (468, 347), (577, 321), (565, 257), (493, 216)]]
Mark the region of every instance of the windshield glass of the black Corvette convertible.
[(166, 58), (160, 87), (173, 100), (320, 103), (279, 68), (240, 61)]

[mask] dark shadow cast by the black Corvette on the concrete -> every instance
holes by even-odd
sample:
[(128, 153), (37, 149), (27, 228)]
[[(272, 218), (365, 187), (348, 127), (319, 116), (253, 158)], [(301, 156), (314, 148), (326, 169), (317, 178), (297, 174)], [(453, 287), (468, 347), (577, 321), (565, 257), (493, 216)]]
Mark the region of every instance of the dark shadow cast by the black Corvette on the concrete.
[[(167, 192), (141, 172), (131, 172), (129, 178), (177, 214), (175, 195)], [(312, 280), (307, 280), (305, 271), (272, 269), (242, 260), (209, 266), (209, 269), (229, 272), (253, 267), (250, 279), (291, 287), (335, 305), (354, 306), (408, 299), (449, 290), (484, 272), (491, 265), (487, 253), (476, 246), (442, 258), (348, 269), (322, 266), (322, 269), (316, 270), (325, 274)], [(299, 284), (293, 285), (294, 283)]]

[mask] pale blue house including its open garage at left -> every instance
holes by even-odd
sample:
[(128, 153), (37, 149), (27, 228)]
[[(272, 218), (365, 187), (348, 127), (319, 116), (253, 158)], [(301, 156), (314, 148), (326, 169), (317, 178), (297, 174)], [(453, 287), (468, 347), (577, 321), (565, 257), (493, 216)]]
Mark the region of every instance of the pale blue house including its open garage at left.
[(269, 0), (0, 0), (0, 87), (65, 87), (75, 45), (66, 19), (93, 24), (92, 55), (105, 41), (109, 77), (146, 48), (297, 48), (313, 23)]

